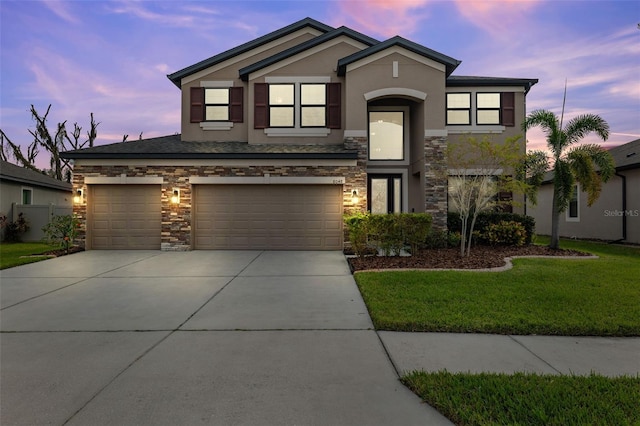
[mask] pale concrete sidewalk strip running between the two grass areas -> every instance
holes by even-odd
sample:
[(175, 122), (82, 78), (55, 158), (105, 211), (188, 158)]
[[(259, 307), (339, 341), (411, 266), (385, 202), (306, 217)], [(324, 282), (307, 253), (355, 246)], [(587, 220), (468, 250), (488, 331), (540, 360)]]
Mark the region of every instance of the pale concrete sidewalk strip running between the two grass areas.
[(400, 374), (413, 370), (640, 377), (640, 338), (378, 332)]

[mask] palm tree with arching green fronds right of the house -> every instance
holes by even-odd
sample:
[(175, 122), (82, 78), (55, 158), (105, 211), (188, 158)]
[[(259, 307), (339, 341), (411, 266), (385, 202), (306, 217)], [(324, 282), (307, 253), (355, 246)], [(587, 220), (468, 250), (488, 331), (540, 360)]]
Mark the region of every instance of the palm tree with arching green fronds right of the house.
[[(589, 133), (595, 133), (603, 141), (609, 137), (609, 124), (595, 114), (577, 116), (562, 126), (560, 119), (547, 110), (531, 112), (522, 123), (524, 131), (540, 126), (547, 136), (547, 147), (551, 159), (546, 153), (533, 152), (529, 155), (547, 158), (553, 163), (548, 167), (553, 171), (553, 203), (551, 211), (551, 242), (549, 247), (558, 248), (560, 214), (569, 206), (576, 182), (587, 193), (587, 204), (591, 206), (600, 196), (602, 182), (609, 180), (615, 172), (613, 157), (596, 144), (578, 144)], [(541, 182), (541, 179), (538, 179)]]

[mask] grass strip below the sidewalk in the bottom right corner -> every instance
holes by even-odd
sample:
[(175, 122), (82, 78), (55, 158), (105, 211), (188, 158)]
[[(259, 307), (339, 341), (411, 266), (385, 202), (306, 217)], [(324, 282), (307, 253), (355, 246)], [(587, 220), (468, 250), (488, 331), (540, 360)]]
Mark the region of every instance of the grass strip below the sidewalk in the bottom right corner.
[(640, 378), (413, 372), (402, 382), (457, 425), (638, 425)]

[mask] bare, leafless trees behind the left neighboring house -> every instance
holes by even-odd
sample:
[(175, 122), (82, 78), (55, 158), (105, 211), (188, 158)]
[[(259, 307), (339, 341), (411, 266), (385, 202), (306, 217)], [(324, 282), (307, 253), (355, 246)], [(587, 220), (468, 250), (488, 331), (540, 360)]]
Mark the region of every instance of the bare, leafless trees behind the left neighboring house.
[(51, 105), (49, 105), (44, 115), (40, 115), (35, 107), (31, 105), (31, 117), (36, 123), (36, 128), (35, 130), (29, 129), (29, 133), (33, 136), (33, 142), (27, 147), (26, 153), (23, 153), (22, 147), (13, 143), (6, 133), (0, 129), (0, 158), (3, 161), (9, 161), (10, 158), (13, 158), (19, 166), (42, 172), (35, 165), (35, 161), (40, 152), (39, 149), (44, 148), (50, 155), (50, 169), (47, 174), (54, 179), (69, 182), (71, 181), (69, 160), (61, 158), (60, 153), (67, 150), (81, 149), (87, 145), (93, 147), (93, 143), (98, 136), (97, 128), (100, 123), (95, 122), (93, 113), (91, 113), (91, 121), (85, 140), (81, 140), (82, 127), (78, 123), (73, 123), (73, 131), (71, 133), (67, 131), (66, 120), (58, 123), (55, 133), (52, 133), (47, 127), (47, 117), (50, 110)]

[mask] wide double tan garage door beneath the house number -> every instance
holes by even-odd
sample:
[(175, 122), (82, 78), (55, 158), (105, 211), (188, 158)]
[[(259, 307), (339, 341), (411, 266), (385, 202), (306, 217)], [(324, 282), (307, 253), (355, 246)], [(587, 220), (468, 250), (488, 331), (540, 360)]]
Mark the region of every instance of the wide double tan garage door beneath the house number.
[(195, 248), (341, 250), (341, 185), (196, 185)]

